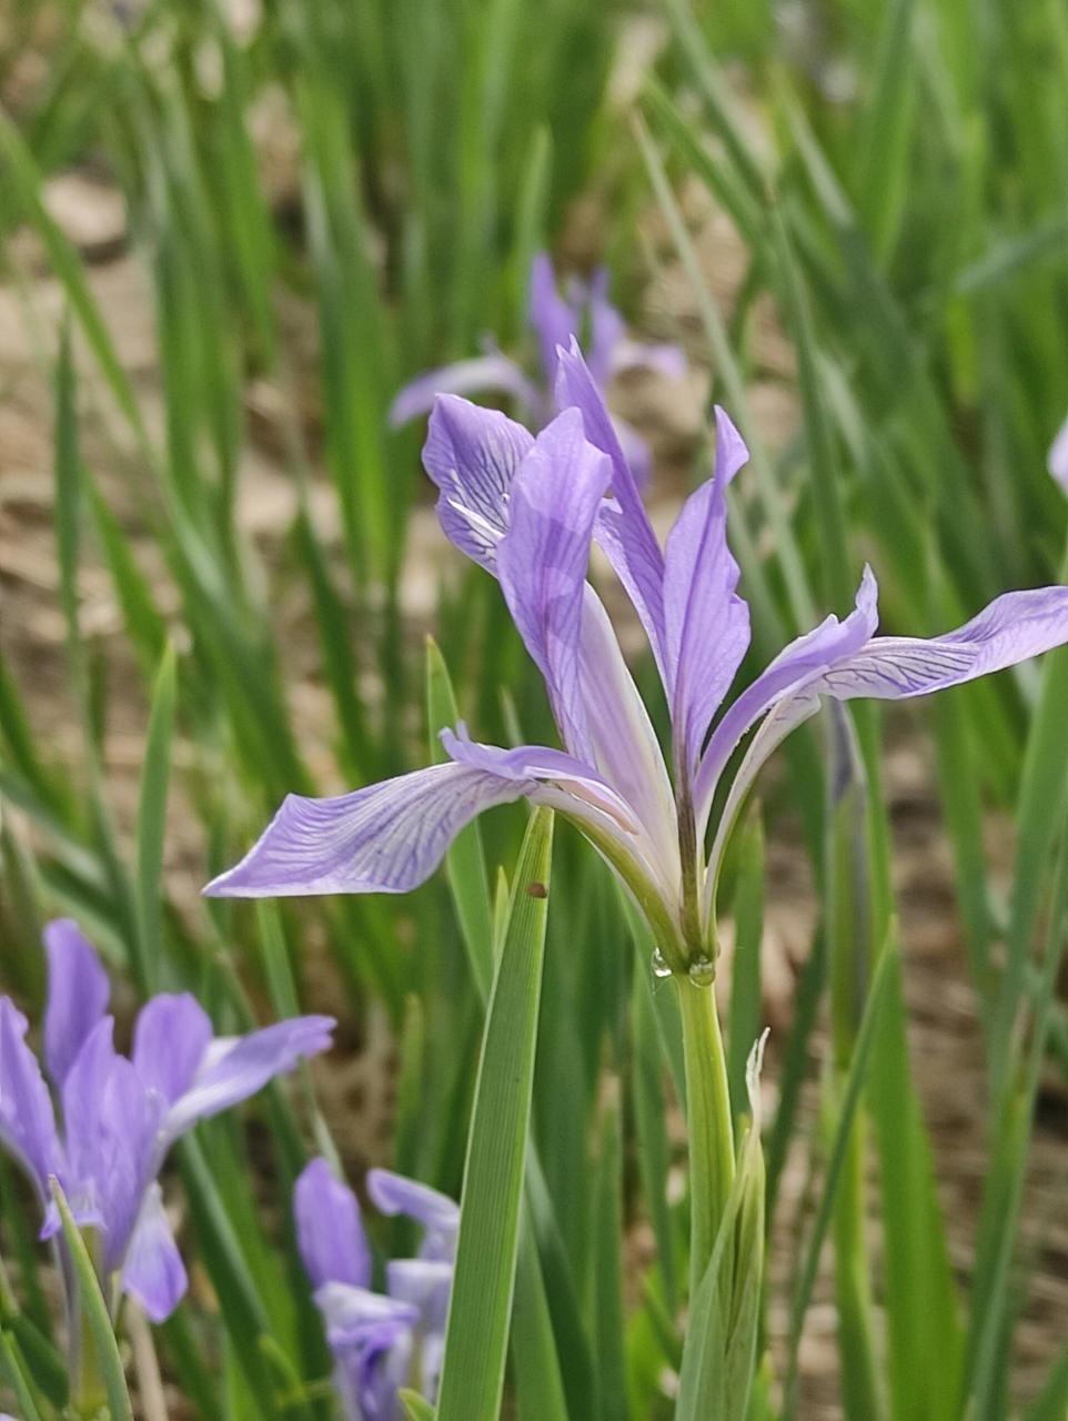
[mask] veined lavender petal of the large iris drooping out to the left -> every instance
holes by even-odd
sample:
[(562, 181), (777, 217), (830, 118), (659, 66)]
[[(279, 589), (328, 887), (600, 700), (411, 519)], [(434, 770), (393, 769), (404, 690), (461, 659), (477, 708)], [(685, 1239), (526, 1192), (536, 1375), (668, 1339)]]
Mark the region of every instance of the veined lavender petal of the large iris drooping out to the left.
[(205, 892), (408, 892), (430, 877), (464, 824), (525, 789), (469, 766), (432, 764), (337, 799), (290, 794), (241, 863)]

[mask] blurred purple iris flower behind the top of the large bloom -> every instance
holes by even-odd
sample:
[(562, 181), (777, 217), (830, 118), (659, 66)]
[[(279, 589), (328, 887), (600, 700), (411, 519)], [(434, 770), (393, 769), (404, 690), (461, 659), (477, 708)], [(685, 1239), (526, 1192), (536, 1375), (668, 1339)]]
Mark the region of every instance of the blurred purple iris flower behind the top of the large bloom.
[[(521, 365), (490, 341), (481, 355), (427, 371), (405, 385), (389, 409), (389, 422), (405, 425), (427, 414), (437, 395), (496, 391), (511, 396), (534, 425), (548, 423), (554, 414), (557, 351), (581, 338), (587, 344), (589, 374), (602, 395), (612, 377), (628, 369), (655, 369), (669, 379), (686, 374), (686, 357), (677, 345), (655, 345), (628, 337), (622, 315), (608, 300), (605, 267), (598, 267), (589, 283), (570, 281), (567, 293), (561, 294), (548, 253), (538, 252), (530, 270), (527, 314), (538, 350), (540, 381), (530, 379)], [(631, 468), (643, 483), (649, 468), (645, 442), (623, 421), (616, 419), (615, 426)]]

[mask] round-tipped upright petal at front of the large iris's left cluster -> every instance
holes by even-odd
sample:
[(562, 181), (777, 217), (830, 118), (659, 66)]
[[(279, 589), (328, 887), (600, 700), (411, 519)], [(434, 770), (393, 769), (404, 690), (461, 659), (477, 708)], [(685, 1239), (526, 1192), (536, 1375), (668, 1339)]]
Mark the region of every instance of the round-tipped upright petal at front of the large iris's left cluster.
[(510, 526), (497, 547), (501, 591), (545, 678), (564, 745), (587, 760), (578, 639), (594, 520), (609, 477), (611, 463), (585, 439), (579, 412), (558, 415), (516, 473)]

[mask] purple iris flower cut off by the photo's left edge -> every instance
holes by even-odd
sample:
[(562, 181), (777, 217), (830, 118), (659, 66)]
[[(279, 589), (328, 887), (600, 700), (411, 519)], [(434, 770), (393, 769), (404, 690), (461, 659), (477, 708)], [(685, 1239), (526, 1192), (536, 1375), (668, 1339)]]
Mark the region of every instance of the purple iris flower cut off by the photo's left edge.
[(168, 1150), (199, 1120), (325, 1050), (334, 1022), (300, 1016), (249, 1036), (216, 1037), (189, 993), (160, 993), (142, 1007), (126, 1059), (112, 1044), (108, 978), (89, 942), (60, 919), (44, 929), (44, 1061), (62, 1125), (26, 1044), (26, 1017), (0, 996), (0, 1145), (37, 1192), (41, 1236), (60, 1231), (54, 1177), (77, 1222), (99, 1231), (105, 1296), (131, 1293), (162, 1322), (187, 1282), (158, 1182)]

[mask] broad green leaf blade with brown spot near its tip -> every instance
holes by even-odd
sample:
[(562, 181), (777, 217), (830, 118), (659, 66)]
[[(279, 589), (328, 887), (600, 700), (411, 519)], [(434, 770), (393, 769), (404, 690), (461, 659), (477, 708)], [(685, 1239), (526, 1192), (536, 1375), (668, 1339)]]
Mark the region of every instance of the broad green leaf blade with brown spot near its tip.
[(504, 1387), (545, 948), (552, 816), (537, 810), (516, 867), (467, 1147), (440, 1421), (493, 1421)]

